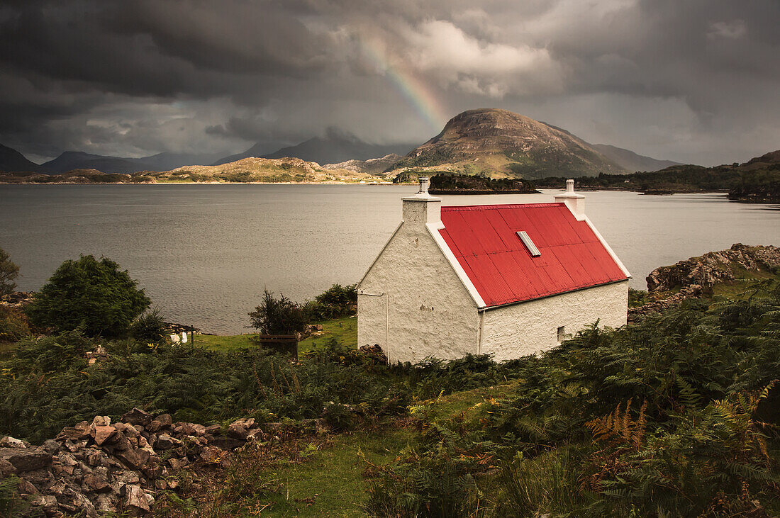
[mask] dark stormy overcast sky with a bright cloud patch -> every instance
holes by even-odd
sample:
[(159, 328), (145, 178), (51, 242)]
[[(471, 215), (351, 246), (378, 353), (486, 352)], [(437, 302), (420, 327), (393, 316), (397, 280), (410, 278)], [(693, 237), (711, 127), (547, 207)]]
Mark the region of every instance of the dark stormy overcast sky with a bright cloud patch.
[(0, 0), (0, 143), (419, 142), (502, 107), (713, 165), (780, 149), (778, 0)]

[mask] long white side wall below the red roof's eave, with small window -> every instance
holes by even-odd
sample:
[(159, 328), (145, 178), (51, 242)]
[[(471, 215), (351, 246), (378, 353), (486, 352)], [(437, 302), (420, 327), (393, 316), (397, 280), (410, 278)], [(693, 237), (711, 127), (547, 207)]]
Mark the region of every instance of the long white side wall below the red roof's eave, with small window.
[(484, 312), (480, 354), (495, 361), (520, 358), (558, 345), (558, 327), (566, 333), (599, 320), (602, 327), (626, 325), (628, 280), (571, 291)]

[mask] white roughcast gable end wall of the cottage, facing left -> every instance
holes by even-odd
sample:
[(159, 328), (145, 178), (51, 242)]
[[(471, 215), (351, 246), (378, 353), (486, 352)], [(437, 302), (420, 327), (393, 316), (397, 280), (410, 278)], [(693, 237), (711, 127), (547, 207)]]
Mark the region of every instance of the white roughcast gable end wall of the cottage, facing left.
[(404, 222), (358, 286), (358, 346), (380, 345), (391, 363), (477, 354), (477, 305), (427, 227), (438, 203), (404, 200)]

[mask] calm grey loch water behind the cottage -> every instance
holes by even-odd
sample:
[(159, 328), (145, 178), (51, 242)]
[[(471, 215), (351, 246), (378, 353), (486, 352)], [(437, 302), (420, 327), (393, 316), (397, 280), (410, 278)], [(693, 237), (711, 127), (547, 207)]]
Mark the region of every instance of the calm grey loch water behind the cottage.
[[(0, 185), (0, 248), (36, 290), (65, 259), (114, 259), (168, 319), (246, 331), (264, 287), (311, 298), (360, 280), (401, 219), (388, 185)], [(444, 205), (539, 203), (541, 195), (444, 196)], [(728, 248), (780, 245), (780, 206), (725, 195), (587, 192), (586, 213), (633, 274)]]

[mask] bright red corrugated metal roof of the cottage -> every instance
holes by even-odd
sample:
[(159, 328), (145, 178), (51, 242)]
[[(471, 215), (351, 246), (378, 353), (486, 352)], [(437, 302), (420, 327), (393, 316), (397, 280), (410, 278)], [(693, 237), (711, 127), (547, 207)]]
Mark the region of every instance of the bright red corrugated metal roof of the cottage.
[[(487, 307), (627, 278), (565, 203), (441, 207), (441, 223), (441, 237)], [(531, 256), (518, 231), (541, 255)]]

